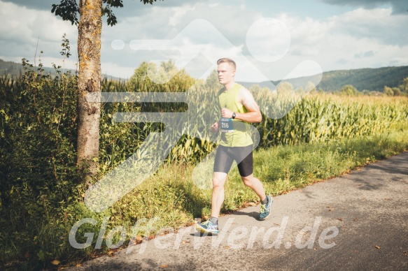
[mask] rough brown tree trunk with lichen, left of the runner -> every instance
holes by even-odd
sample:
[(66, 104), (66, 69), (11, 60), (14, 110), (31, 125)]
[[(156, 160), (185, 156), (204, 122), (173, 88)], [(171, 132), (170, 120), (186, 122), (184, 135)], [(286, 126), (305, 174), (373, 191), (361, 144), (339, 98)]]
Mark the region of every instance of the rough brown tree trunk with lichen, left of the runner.
[(78, 171), (90, 184), (98, 171), (100, 103), (87, 93), (101, 91), (102, 0), (80, 0), (78, 24)]

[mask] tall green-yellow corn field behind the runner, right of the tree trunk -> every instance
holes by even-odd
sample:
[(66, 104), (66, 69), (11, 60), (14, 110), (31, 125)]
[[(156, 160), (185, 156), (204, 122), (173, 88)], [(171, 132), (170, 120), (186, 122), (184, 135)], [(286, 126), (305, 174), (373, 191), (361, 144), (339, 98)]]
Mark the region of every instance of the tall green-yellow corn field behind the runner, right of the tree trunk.
[[(151, 82), (136, 82), (129, 86), (105, 82), (102, 91), (153, 91), (171, 101), (171, 93), (183, 92), (185, 85), (170, 87)], [(185, 93), (185, 103), (105, 103), (101, 113), (101, 161), (104, 169), (124, 161), (137, 151), (149, 133), (164, 130), (159, 123), (115, 123), (117, 112), (184, 112), (178, 124), (172, 126), (172, 140), (178, 144), (167, 160), (195, 163), (216, 147), (217, 135), (210, 126), (220, 116), (218, 89), (204, 83), (192, 85)], [(166, 96), (168, 94), (168, 96)], [(262, 122), (254, 124), (260, 133), (260, 147), (294, 145), (299, 142), (323, 142), (382, 133), (407, 123), (408, 99), (388, 97), (340, 97), (330, 94), (273, 96), (254, 93), (263, 114)], [(157, 100), (155, 100), (157, 101)], [(269, 112), (273, 110), (273, 112)], [(286, 114), (283, 114), (287, 112)], [(283, 115), (272, 119), (267, 116)]]

